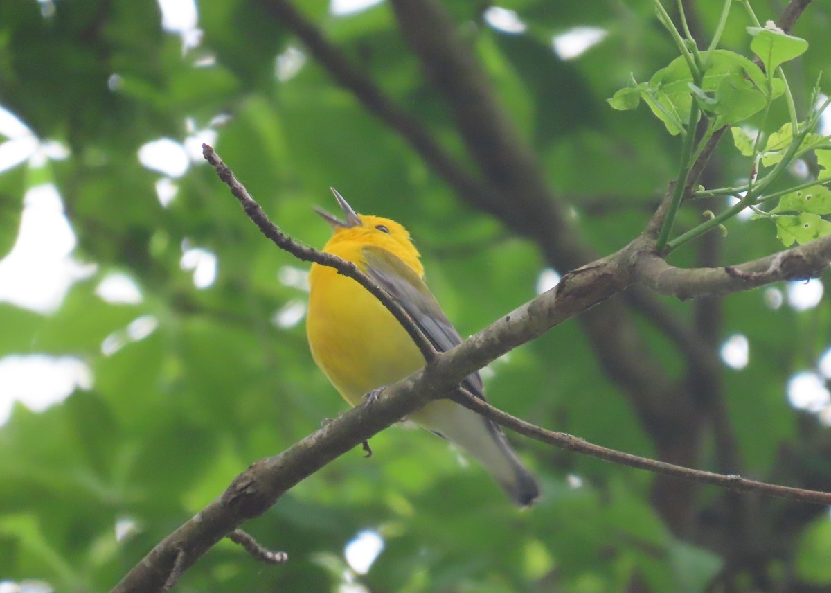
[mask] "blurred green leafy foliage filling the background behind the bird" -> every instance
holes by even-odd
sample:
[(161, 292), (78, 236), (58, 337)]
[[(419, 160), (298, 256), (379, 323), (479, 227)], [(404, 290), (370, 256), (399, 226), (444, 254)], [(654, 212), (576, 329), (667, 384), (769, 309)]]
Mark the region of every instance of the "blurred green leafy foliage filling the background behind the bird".
[[(796, 30), (811, 44), (789, 71), (802, 108), (805, 89), (821, 66), (828, 70), (831, 55), (824, 28), (831, 12), (821, 4), (814, 2)], [(572, 200), (584, 238), (601, 254), (625, 245), (676, 169), (677, 139), (660, 121), (605, 103), (630, 72), (648, 79), (674, 57), (652, 2), (505, 2), (529, 24), (523, 37), (487, 26), (474, 2), (447, 5), (551, 184)], [(175, 180), (175, 199), (161, 205), (160, 174), (140, 165), (140, 146), (160, 137), (183, 142), (213, 127), (224, 161), (283, 230), (309, 245), (327, 239), (312, 205), (332, 207), (330, 185), (356, 209), (401, 221), (463, 335), (532, 298), (546, 264), (534, 245), (461, 203), (406, 141), (310, 57), (279, 81), (278, 55), (302, 47), (263, 2), (200, 2), (204, 35), (187, 52), (160, 27), (154, 2), (56, 2), (44, 17), (45, 6), (0, 2), (0, 104), (39, 138), (70, 148), (47, 173), (77, 235), (75, 257), (97, 269), (72, 286), (54, 314), (0, 304), (0, 357), (71, 355), (91, 368), (94, 387), (43, 413), (18, 404), (0, 427), (0, 581), (106, 591), (248, 463), (280, 452), (345, 406), (314, 368), (302, 322), (273, 323), (287, 304), (306, 299), (281, 281), (287, 269), (304, 266), (263, 239), (198, 158)], [(315, 0), (302, 2), (302, 11), (462, 156), (453, 122), (389, 6), (336, 17)], [(701, 30), (719, 11), (720, 2), (696, 2)], [(724, 40), (749, 55), (745, 24), (731, 19)], [(607, 36), (563, 61), (550, 39), (577, 26), (602, 27)], [(221, 114), (228, 117), (216, 121)], [(746, 168), (735, 151), (717, 167), (725, 183), (746, 176)], [(31, 185), (26, 165), (0, 175), (4, 254)], [(689, 211), (679, 225), (697, 222)], [(764, 226), (730, 223), (730, 263), (777, 249)], [(181, 269), (183, 242), (217, 256), (208, 288), (195, 288)], [(689, 251), (674, 257), (690, 263)], [(113, 272), (140, 287), (139, 304), (96, 295)], [(690, 318), (686, 305), (666, 306)], [(125, 336), (131, 321), (147, 315), (155, 331), (102, 353), (107, 336)], [(797, 313), (787, 305), (770, 309), (761, 291), (726, 301), (724, 337), (740, 333), (750, 341), (749, 366), (725, 369), (724, 381), (754, 476), (770, 477), (779, 448), (808, 422), (789, 408), (785, 384), (828, 347), (829, 324), (827, 302)], [(641, 327), (677, 372), (681, 353), (650, 324)], [(554, 329), (493, 367), (487, 388), (500, 408), (608, 447), (655, 454), (578, 324)], [(259, 565), (224, 541), (184, 574), (177, 591), (337, 591), (347, 579), (369, 591), (591, 593), (632, 583), (705, 591), (720, 570), (715, 552), (677, 540), (656, 516), (649, 475), (512, 440), (543, 484), (543, 499), (530, 511), (510, 507), (484, 472), (460, 463), (445, 442), (393, 427), (373, 439), (371, 459), (360, 451), (337, 459), (245, 526), (264, 545), (288, 551), (287, 564)], [(702, 492), (702, 506), (716, 495)], [(118, 522), (134, 526), (120, 541)], [(365, 529), (381, 534), (385, 548), (361, 576), (343, 550)], [(799, 574), (824, 586), (831, 585), (820, 566), (828, 537), (827, 522), (818, 522), (797, 558)]]

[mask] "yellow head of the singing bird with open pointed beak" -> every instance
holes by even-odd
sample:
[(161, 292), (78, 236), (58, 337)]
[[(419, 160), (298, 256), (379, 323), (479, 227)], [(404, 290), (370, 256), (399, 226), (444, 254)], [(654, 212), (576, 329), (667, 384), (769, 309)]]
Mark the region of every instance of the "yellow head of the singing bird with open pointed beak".
[(315, 212), (334, 230), (327, 248), (346, 241), (354, 241), (362, 245), (376, 245), (396, 254), (406, 263), (411, 264), (411, 267), (420, 269), (419, 252), (404, 226), (399, 225), (395, 220), (381, 218), (381, 216), (359, 215), (335, 188), (332, 188), (332, 193), (337, 203), (341, 205), (344, 220), (329, 214), (322, 208), (315, 208)]

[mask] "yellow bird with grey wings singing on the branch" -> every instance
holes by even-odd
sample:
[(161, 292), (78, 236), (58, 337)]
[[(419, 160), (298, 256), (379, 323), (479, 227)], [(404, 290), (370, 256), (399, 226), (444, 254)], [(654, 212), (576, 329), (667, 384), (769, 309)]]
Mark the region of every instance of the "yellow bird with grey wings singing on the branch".
[[(346, 220), (317, 213), (334, 235), (323, 248), (351, 261), (396, 299), (440, 351), (461, 343), (422, 279), (424, 268), (410, 234), (395, 220), (358, 215), (332, 189)], [(396, 383), (424, 367), (425, 360), (406, 330), (372, 294), (351, 278), (313, 264), (306, 332), (312, 357), (352, 406), (364, 394)], [(465, 387), (484, 399), (479, 373)], [(450, 400), (437, 400), (410, 419), (462, 447), (484, 465), (510, 499), (527, 507), (539, 496), (531, 473), (519, 462), (499, 426)]]

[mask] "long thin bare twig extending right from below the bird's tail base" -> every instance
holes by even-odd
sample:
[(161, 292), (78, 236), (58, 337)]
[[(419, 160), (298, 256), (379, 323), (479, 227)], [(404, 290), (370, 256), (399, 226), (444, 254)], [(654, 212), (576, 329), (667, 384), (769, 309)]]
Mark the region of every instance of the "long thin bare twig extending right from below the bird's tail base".
[(481, 414), (485, 418), (493, 420), (506, 428), (510, 428), (519, 434), (526, 437), (533, 438), (536, 441), (546, 442), (555, 447), (560, 447), (568, 451), (582, 453), (589, 457), (597, 457), (603, 461), (617, 463), (627, 467), (637, 467), (648, 472), (660, 473), (666, 476), (678, 477), (684, 480), (691, 480), (693, 482), (703, 482), (706, 484), (714, 484), (735, 490), (739, 492), (753, 491), (767, 494), (772, 497), (788, 498), (790, 500), (799, 502), (811, 502), (819, 505), (831, 504), (831, 492), (819, 492), (815, 490), (804, 490), (803, 488), (793, 488), (787, 486), (779, 486), (777, 484), (769, 484), (767, 482), (758, 482), (756, 480), (748, 480), (740, 476), (726, 476), (720, 473), (702, 472), (701, 470), (691, 469), (690, 467), (681, 467), (672, 463), (659, 462), (655, 459), (647, 457), (639, 457), (631, 453), (624, 453), (610, 449), (608, 447), (601, 447), (583, 438), (574, 437), (565, 432), (553, 432), (543, 427), (538, 427), (535, 424), (525, 422), (520, 418), (511, 416), (499, 408), (494, 408), (489, 403), (482, 399), (476, 398), (472, 393), (465, 389), (456, 391), (453, 400), (460, 403), (476, 413)]

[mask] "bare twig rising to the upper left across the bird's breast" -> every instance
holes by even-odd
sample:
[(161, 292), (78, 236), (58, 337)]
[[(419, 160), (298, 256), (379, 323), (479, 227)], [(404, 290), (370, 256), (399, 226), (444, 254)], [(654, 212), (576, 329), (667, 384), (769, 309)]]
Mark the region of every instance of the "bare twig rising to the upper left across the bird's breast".
[(425, 360), (430, 362), (435, 358), (437, 351), (433, 346), (433, 343), (430, 342), (430, 339), (425, 336), (416, 322), (413, 321), (410, 314), (408, 314), (401, 304), (398, 304), (396, 299), (393, 299), (390, 294), (386, 292), (386, 290), (382, 289), (378, 286), (378, 284), (373, 282), (369, 276), (361, 272), (356, 264), (345, 261), (344, 259), (337, 257), (337, 255), (327, 254), (323, 251), (318, 251), (312, 249), (311, 247), (301, 245), (296, 240), (293, 240), (291, 237), (283, 233), (277, 225), (275, 225), (271, 220), (268, 220), (268, 216), (265, 212), (263, 212), (263, 209), (260, 208), (260, 205), (253, 199), (253, 197), (251, 197), (251, 194), (248, 193), (245, 186), (237, 180), (234, 176), (234, 171), (231, 170), (229, 166), (225, 165), (222, 159), (219, 158), (219, 155), (216, 151), (214, 151), (212, 146), (203, 144), (202, 156), (204, 156), (205, 161), (208, 161), (209, 164), (214, 167), (216, 174), (219, 175), (219, 179), (223, 180), (225, 185), (229, 186), (231, 193), (234, 194), (234, 197), (237, 198), (237, 200), (239, 200), (239, 203), (243, 206), (243, 210), (245, 210), (245, 214), (248, 215), (248, 218), (258, 226), (259, 230), (263, 232), (263, 235), (273, 241), (274, 245), (277, 245), (281, 250), (288, 251), (288, 253), (293, 254), (294, 257), (301, 259), (302, 261), (314, 262), (316, 264), (326, 265), (330, 268), (337, 269), (338, 274), (343, 274), (348, 278), (352, 278), (358, 284), (361, 284), (361, 286), (369, 290), (376, 299), (381, 301), (381, 304), (383, 304), (386, 309), (388, 309), (390, 313), (395, 316), (398, 323), (404, 326), (407, 334), (410, 334), (410, 337), (416, 343), (416, 346), (418, 346)]

